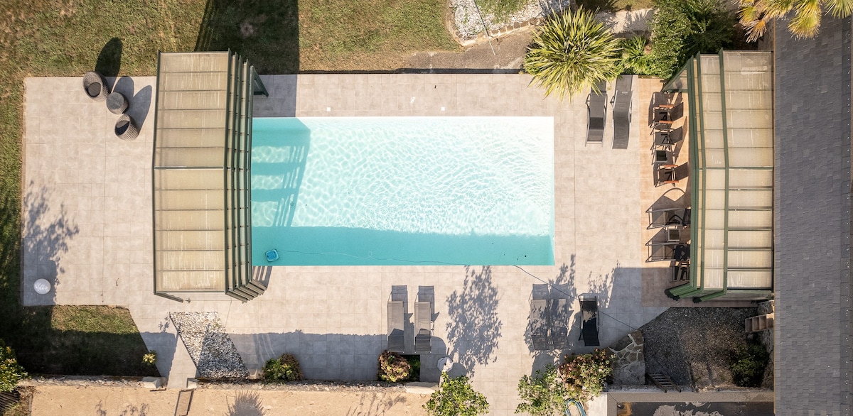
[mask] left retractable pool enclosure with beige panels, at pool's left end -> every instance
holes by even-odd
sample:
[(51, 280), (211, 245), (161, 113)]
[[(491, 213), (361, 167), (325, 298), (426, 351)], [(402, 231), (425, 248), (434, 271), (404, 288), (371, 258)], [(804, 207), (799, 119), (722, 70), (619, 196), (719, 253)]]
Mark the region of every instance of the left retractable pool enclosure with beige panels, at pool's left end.
[(250, 150), (257, 72), (230, 52), (161, 53), (154, 121), (154, 293), (264, 293), (252, 279)]

